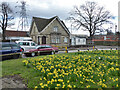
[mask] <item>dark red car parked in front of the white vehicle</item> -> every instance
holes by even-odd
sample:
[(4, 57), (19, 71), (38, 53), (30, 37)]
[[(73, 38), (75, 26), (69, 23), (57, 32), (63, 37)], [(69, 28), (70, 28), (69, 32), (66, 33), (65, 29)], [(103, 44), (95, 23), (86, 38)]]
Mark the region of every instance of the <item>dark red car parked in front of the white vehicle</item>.
[[(57, 49), (56, 49), (57, 50)], [(55, 49), (50, 45), (38, 45), (36, 49), (27, 50), (24, 54), (26, 56), (35, 56), (35, 55), (45, 55), (45, 54), (54, 54)]]

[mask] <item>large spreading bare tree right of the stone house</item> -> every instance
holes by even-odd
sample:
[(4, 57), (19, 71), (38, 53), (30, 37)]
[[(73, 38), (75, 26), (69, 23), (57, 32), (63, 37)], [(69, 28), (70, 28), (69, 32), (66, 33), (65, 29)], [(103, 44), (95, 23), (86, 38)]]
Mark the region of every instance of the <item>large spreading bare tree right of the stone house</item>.
[(103, 30), (103, 25), (110, 22), (112, 15), (96, 2), (86, 2), (80, 7), (75, 6), (70, 12), (70, 20), (77, 29), (89, 31), (92, 38), (96, 31)]

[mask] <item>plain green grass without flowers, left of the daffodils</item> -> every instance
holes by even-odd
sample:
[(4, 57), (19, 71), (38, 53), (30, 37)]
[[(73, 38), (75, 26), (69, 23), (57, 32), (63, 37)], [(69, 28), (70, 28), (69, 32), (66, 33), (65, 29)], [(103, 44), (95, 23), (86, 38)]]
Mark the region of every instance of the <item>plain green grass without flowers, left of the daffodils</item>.
[[(61, 54), (62, 55), (62, 54)], [(23, 60), (29, 60), (29, 59), (38, 59), (42, 58), (44, 56), (38, 56), (38, 57), (28, 57), (26, 58), (20, 58), (20, 59), (11, 59), (11, 60), (5, 60), (0, 62), (0, 77), (5, 76), (13, 76), (13, 75), (19, 75), (24, 79), (25, 84), (27, 84), (28, 88), (33, 88), (35, 85), (38, 84), (40, 77), (39, 72), (36, 72), (32, 67), (27, 68), (23, 64)]]

